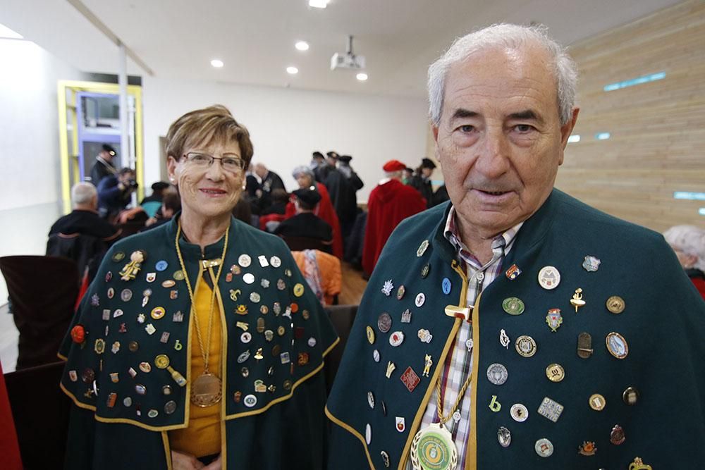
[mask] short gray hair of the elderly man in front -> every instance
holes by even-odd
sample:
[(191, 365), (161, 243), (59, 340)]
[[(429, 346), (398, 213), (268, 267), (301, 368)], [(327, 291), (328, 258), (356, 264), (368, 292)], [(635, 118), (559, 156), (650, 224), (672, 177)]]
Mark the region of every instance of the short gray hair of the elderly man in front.
[(575, 106), (577, 88), (577, 66), (568, 56), (565, 48), (551, 39), (544, 25), (520, 26), (501, 23), (491, 25), (471, 32), (469, 35), (455, 39), (450, 49), (441, 58), (429, 67), (429, 117), (434, 125), (441, 123), (441, 109), (443, 109), (443, 93), (446, 86), (446, 75), (450, 67), (464, 61), (471, 54), (490, 49), (503, 47), (520, 49), (529, 44), (537, 44), (551, 56), (553, 75), (558, 82), (558, 111), (560, 125), (565, 125), (572, 117)]

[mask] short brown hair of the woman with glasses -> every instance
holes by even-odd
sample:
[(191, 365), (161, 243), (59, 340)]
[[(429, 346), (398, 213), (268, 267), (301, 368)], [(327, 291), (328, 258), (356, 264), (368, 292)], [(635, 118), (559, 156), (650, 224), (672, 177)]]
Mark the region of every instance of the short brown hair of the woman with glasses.
[(166, 155), (178, 160), (186, 148), (215, 141), (238, 142), (245, 168), (250, 165), (254, 151), (250, 132), (221, 104), (190, 111), (175, 120), (166, 133)]

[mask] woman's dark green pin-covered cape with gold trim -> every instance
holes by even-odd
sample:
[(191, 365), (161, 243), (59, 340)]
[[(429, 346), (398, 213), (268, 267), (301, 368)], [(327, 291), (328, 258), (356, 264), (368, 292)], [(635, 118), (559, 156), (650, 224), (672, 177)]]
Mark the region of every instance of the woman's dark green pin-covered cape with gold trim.
[[(76, 405), (67, 468), (171, 468), (167, 432), (188, 425), (195, 341), (177, 220), (114, 245), (80, 304), (73, 325), (85, 338), (67, 335), (60, 352), (68, 358), (61, 388)], [(220, 259), (223, 243), (202, 253), (179, 241), (194, 291), (205, 269), (222, 264), (223, 350), (214, 373), (223, 398), (213, 406), (224, 416), (223, 468), (321, 468), (321, 369), (336, 333), (281, 239), (233, 218), (225, 259), (207, 262)], [(137, 250), (145, 259), (135, 278), (122, 280)]]

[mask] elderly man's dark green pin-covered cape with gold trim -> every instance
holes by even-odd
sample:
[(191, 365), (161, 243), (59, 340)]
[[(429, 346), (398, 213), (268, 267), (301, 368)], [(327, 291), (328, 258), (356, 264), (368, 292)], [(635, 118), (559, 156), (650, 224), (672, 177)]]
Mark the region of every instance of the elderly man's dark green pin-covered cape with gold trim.
[[(463, 321), (446, 315), (446, 306), (466, 307), (465, 275), (442, 233), (449, 210), (449, 204), (443, 204), (401, 223), (369, 280), (326, 407), (335, 423), (330, 469), (385, 468), (386, 457), (391, 468), (404, 469), (410, 458), (412, 439)], [(429, 242), (425, 251), (424, 240)], [(582, 267), (585, 256), (601, 261), (597, 271)], [(429, 273), (424, 278), (426, 265)], [(521, 273), (512, 280), (505, 271), (513, 265)], [(560, 272), (560, 284), (553, 290), (539, 285), (544, 266)], [(472, 311), (466, 469), (626, 470), (637, 456), (654, 469), (703, 466), (705, 302), (661, 235), (553, 190), (522, 225), (502, 270)], [(447, 295), (443, 278), (450, 280)], [(391, 295), (381, 292), (387, 280), (394, 286)], [(405, 293), (398, 299), (400, 285)], [(570, 300), (578, 288), (585, 304), (575, 313)], [(425, 295), (421, 307), (415, 304), (419, 293)], [(625, 302), (620, 314), (606, 307), (614, 295)], [(508, 297), (521, 299), (525, 311), (507, 314), (503, 300)], [(412, 314), (410, 323), (401, 321), (406, 309)], [(549, 309), (562, 312), (563, 323), (555, 332), (546, 323)], [(384, 312), (391, 316), (387, 333), (378, 327)], [(419, 340), (421, 329), (429, 330), (431, 342)], [(501, 345), (501, 330), (510, 338), (508, 347)], [(404, 335), (397, 346), (390, 343), (395, 332)], [(591, 335), (587, 359), (577, 354), (580, 333)], [(625, 339), (628, 352), (623, 359), (608, 350), (610, 333)], [(522, 357), (515, 349), (522, 335), (536, 342), (532, 357)], [(617, 351), (614, 343), (612, 349), (618, 355), (625, 352)], [(422, 374), (427, 354), (433, 361), (429, 377)], [(396, 369), (387, 378), (390, 361)], [(507, 369), (503, 385), (489, 381), (491, 364)], [(563, 366), (563, 381), (548, 380), (549, 364)], [(412, 391), (401, 380), (407, 368), (420, 380)], [(630, 387), (639, 392), (635, 404), (623, 400)], [(596, 393), (606, 402), (601, 411), (589, 404)], [(493, 396), (499, 406), (491, 409)], [(556, 422), (538, 412), (545, 397), (563, 406)], [(526, 421), (513, 419), (513, 404), (527, 407)], [(405, 420), (403, 432), (396, 428), (397, 417)], [(615, 426), (623, 431), (622, 443), (611, 442)], [(498, 441), (501, 427), (510, 432), (508, 447)], [(534, 450), (542, 438), (553, 445), (550, 457)], [(612, 440), (620, 441), (615, 436)], [(579, 453), (584, 445), (593, 450), (590, 443), (596, 448), (593, 454)]]

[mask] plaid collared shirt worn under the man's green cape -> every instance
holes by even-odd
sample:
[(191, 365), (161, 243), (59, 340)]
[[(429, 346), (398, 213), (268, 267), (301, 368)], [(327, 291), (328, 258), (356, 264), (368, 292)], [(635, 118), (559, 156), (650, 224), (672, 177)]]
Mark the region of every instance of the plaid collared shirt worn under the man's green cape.
[[(458, 227), (455, 224), (455, 208), (450, 208), (443, 235), (455, 247), (458, 258), (465, 264), (465, 274), (467, 275), (466, 307), (474, 305), (475, 299), (482, 292), (482, 288), (489, 285), (499, 276), (502, 271), (504, 256), (512, 248), (515, 236), (522, 224), (523, 222), (517, 223), (517, 225), (492, 240), (492, 259), (482, 266), (460, 240), (460, 233), (458, 233)], [(458, 392), (460, 392), (462, 384), (465, 383), (470, 373), (472, 373), (472, 325), (467, 321), (463, 321), (441, 372), (443, 414), (447, 415), (449, 410), (453, 409), (455, 400), (458, 399)], [(471, 383), (465, 391), (465, 396), (460, 400), (458, 410), (444, 425), (453, 435), (455, 447), (458, 448), (458, 469), (465, 468), (465, 450), (467, 448), (467, 440), (470, 437), (470, 397), (472, 396), (471, 390), (473, 387), (474, 384)], [(421, 421), (421, 429), (431, 423), (439, 422), (437, 396), (438, 394), (434, 390)], [(411, 468), (411, 462), (409, 462), (407, 469)]]

